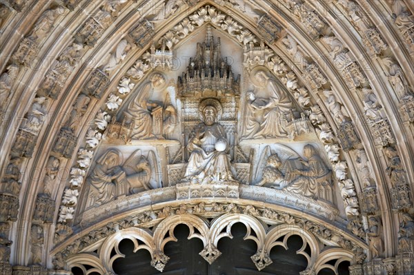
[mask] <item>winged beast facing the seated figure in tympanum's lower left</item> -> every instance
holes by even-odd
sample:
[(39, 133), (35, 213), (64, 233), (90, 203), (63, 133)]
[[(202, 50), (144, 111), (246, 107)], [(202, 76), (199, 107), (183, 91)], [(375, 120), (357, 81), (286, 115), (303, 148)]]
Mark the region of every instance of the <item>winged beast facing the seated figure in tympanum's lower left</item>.
[(141, 150), (137, 150), (131, 154), (122, 165), (122, 170), (126, 172), (126, 182), (129, 186), (129, 194), (136, 194), (141, 191), (151, 190), (152, 186), (157, 186), (157, 174), (159, 174), (157, 165), (157, 157), (155, 152), (148, 152), (148, 156), (144, 156)]

